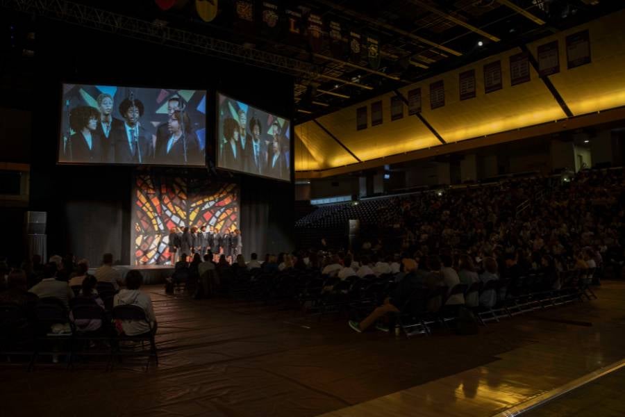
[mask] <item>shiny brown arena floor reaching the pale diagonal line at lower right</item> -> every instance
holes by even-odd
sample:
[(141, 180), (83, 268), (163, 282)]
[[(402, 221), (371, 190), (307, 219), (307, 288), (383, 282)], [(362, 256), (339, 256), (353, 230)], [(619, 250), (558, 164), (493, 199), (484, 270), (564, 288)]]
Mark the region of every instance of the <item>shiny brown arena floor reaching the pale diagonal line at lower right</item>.
[[(0, 366), (7, 416), (492, 416), (621, 359), (625, 283), (599, 300), (395, 339), (344, 319), (151, 294), (160, 364)], [(88, 411), (85, 411), (88, 410)]]

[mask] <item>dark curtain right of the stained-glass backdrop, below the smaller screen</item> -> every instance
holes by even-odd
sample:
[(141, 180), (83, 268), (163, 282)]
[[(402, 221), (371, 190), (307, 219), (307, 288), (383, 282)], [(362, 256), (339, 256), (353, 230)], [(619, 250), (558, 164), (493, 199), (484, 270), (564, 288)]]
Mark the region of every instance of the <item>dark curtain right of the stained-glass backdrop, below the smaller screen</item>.
[(257, 177), (241, 179), (241, 234), (243, 255), (292, 252), (294, 186)]

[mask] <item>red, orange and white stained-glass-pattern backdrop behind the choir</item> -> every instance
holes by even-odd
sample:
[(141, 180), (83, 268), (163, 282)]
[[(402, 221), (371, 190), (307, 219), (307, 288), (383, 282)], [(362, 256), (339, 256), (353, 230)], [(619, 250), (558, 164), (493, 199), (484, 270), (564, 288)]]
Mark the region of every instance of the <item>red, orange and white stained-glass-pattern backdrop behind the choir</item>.
[(208, 179), (135, 174), (131, 235), (133, 265), (169, 263), (169, 229), (239, 224), (238, 186)]

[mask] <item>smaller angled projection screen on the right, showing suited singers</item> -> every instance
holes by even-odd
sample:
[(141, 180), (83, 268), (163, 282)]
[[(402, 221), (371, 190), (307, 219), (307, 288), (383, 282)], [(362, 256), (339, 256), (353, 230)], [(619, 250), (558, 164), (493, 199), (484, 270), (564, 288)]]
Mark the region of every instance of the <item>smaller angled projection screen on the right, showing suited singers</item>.
[(217, 97), (217, 167), (291, 181), (290, 120)]

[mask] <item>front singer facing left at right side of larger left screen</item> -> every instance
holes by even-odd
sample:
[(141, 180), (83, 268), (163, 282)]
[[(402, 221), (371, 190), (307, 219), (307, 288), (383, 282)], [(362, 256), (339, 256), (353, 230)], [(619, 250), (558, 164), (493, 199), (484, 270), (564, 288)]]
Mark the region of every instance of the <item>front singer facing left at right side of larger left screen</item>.
[(178, 165), (203, 163), (197, 136), (191, 129), (189, 115), (176, 110), (169, 118), (167, 126), (169, 126), (167, 142), (165, 147), (157, 150), (156, 161)]

